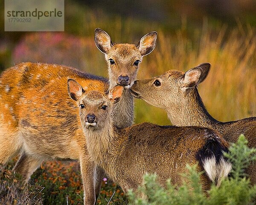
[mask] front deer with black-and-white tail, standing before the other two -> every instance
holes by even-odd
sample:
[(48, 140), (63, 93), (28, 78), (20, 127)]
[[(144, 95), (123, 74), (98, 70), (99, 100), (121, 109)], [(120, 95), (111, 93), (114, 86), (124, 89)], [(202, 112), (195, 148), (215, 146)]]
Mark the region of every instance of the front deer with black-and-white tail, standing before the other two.
[[(123, 87), (113, 87), (108, 96), (100, 91), (87, 91), (73, 79), (68, 80), (68, 92), (79, 107), (81, 125), (92, 160), (126, 192), (143, 183), (143, 175), (156, 173), (158, 182), (166, 187), (171, 178), (182, 184), (180, 173), (186, 164), (198, 163), (204, 190), (211, 181), (220, 184), (231, 169), (223, 157), (228, 143), (218, 134), (202, 127), (159, 126), (148, 122), (117, 128), (113, 124), (112, 103), (117, 103)], [(122, 99), (122, 98), (121, 98)]]

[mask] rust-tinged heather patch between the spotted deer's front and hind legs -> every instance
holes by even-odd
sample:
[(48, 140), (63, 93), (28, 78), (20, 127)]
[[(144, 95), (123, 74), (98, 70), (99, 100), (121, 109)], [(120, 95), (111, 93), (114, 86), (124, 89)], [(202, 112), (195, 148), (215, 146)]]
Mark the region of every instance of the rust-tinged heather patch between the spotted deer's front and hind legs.
[(44, 187), (44, 204), (83, 204), (83, 191), (77, 162), (46, 162), (32, 175), (32, 182)]

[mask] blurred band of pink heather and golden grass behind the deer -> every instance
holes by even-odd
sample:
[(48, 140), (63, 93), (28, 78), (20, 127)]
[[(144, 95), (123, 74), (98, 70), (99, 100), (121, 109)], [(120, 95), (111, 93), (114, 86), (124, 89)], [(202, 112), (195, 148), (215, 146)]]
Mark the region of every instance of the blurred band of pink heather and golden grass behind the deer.
[[(93, 22), (88, 26), (92, 31), (98, 27)], [(196, 28), (188, 34), (185, 21), (180, 29), (170, 34), (157, 25), (145, 23), (137, 34), (132, 20), (121, 22), (117, 18), (113, 25), (116, 27), (101, 28), (108, 32), (115, 43), (137, 43), (147, 32), (158, 31), (157, 46), (144, 57), (138, 79), (154, 77), (169, 69), (186, 71), (200, 63), (209, 62), (212, 65), (209, 75), (199, 85), (199, 93), (209, 113), (223, 122), (256, 116), (255, 28), (243, 27), (238, 22), (237, 28), (230, 30), (223, 25), (216, 31), (205, 20), (202, 28)], [(154, 26), (156, 28), (153, 29)], [(53, 51), (55, 55), (52, 52), (47, 54), (44, 50)], [(66, 34), (29, 34), (16, 46), (13, 61), (71, 65), (107, 77), (105, 58), (94, 44), (93, 33), (91, 37), (76, 38)], [(160, 125), (170, 124), (163, 110), (142, 100), (135, 102), (136, 123), (148, 121)]]

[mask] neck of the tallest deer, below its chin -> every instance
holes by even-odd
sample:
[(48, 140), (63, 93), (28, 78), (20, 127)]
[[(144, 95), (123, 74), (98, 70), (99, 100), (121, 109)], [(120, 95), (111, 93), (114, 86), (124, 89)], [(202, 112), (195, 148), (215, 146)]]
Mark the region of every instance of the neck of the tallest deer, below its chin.
[(125, 89), (119, 103), (114, 104), (112, 119), (117, 128), (127, 128), (134, 121), (134, 100), (130, 89)]

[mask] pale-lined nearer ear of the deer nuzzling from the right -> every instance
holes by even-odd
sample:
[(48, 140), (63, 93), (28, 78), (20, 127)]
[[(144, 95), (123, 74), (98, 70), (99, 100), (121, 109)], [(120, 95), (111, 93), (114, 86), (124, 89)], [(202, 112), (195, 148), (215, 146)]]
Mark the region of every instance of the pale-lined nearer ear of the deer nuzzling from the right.
[(182, 90), (186, 90), (187, 88), (192, 88), (198, 84), (200, 76), (202, 74), (201, 68), (191, 68), (186, 71), (186, 73), (181, 78)]

